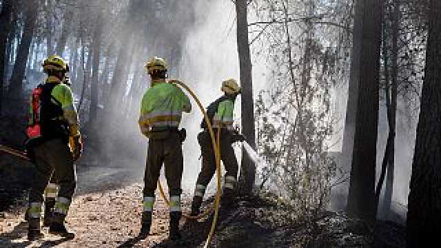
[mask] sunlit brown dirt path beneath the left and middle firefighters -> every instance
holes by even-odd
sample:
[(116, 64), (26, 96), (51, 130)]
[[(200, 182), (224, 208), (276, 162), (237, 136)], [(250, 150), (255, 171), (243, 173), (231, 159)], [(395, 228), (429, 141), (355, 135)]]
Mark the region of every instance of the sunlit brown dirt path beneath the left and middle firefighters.
[(141, 196), (142, 187), (135, 184), (74, 198), (66, 219), (76, 232), (74, 240), (57, 238), (45, 229), (43, 240), (29, 242), (23, 209), (16, 209), (0, 216), (0, 247), (167, 247), (168, 208), (160, 198), (155, 203), (151, 236), (130, 242), (140, 229)]

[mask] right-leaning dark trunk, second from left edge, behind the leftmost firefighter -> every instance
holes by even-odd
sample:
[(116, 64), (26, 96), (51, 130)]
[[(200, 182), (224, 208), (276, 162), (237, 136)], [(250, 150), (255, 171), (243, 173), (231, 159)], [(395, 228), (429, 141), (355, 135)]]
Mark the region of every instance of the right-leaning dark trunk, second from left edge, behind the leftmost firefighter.
[[(23, 74), (28, 61), (29, 47), (34, 35), (34, 26), (37, 21), (38, 0), (30, 0), (28, 10), (26, 11), (24, 30), (21, 42), (15, 59), (14, 70), (12, 71), (11, 84), (9, 88), (10, 99), (21, 101), (21, 92), (23, 90)], [(20, 104), (20, 103), (18, 103)]]

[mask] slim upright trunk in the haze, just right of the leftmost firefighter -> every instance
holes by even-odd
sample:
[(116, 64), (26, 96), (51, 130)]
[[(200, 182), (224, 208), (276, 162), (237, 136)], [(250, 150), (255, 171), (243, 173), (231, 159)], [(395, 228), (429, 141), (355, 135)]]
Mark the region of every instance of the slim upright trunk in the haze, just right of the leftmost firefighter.
[(92, 65), (92, 85), (90, 92), (90, 113), (89, 122), (92, 130), (95, 128), (97, 113), (98, 113), (98, 74), (99, 74), (99, 59), (100, 59), (100, 48), (101, 48), (101, 17), (98, 16), (96, 21), (96, 27), (94, 30), (93, 37), (93, 65)]

